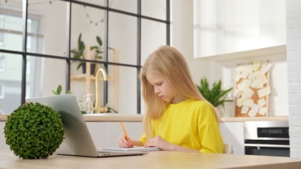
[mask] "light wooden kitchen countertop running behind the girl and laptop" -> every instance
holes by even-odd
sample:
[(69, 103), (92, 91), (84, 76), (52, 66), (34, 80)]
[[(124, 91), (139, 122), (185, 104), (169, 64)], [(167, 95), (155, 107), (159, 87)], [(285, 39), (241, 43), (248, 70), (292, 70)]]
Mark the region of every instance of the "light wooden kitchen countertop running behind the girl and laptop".
[[(86, 122), (143, 122), (144, 115), (101, 113), (84, 115)], [(7, 121), (7, 115), (0, 115), (0, 121)], [(249, 117), (249, 118), (221, 118), (221, 122), (246, 122), (246, 121), (289, 121), (288, 116), (274, 117)]]

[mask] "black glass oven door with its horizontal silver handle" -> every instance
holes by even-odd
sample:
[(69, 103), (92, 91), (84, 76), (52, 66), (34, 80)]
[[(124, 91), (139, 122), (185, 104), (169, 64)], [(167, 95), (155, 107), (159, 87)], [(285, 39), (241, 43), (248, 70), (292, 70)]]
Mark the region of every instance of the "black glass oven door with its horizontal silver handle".
[(261, 140), (250, 141), (245, 141), (246, 155), (290, 157), (289, 141), (277, 141), (277, 144), (267, 144)]

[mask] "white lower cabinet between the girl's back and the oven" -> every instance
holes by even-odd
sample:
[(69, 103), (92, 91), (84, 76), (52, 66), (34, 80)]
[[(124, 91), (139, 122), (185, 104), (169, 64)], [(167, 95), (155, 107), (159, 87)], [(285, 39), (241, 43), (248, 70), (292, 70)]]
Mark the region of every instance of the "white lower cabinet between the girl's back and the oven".
[(223, 122), (219, 129), (225, 143), (233, 146), (234, 154), (245, 154), (244, 122)]

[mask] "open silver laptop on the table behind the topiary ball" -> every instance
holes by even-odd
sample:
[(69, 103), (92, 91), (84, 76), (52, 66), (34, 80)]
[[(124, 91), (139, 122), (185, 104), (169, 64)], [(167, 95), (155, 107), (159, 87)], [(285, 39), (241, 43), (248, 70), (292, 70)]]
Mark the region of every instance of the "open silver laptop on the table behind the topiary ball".
[(113, 157), (142, 155), (147, 152), (98, 151), (92, 140), (83, 115), (80, 112), (76, 97), (72, 94), (36, 97), (27, 102), (41, 103), (50, 106), (61, 115), (64, 126), (64, 140), (55, 153), (86, 157)]

